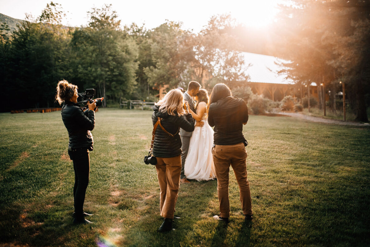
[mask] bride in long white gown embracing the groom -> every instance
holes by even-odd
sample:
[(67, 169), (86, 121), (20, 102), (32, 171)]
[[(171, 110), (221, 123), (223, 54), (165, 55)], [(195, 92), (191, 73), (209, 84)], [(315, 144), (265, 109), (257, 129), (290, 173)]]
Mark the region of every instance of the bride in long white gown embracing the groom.
[(199, 89), (199, 93), (195, 96), (197, 114), (190, 110), (197, 122), (204, 122), (204, 126), (202, 127), (195, 126), (190, 138), (188, 156), (185, 160), (186, 178), (197, 181), (213, 180), (216, 177), (212, 158), (213, 129), (207, 121), (208, 99), (207, 91), (205, 89)]

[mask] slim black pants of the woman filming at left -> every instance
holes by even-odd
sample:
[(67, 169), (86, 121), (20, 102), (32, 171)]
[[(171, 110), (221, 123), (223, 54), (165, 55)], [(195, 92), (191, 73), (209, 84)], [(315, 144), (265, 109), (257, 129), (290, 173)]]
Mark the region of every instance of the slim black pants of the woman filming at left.
[(76, 215), (83, 213), (86, 188), (89, 183), (90, 156), (89, 151), (76, 150), (71, 153), (74, 170), (74, 211)]

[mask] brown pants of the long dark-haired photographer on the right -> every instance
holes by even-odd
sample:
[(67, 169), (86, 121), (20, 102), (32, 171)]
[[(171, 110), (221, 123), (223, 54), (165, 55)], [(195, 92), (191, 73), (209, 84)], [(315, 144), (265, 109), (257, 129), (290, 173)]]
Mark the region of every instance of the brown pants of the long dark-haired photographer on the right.
[(230, 216), (229, 205), (229, 171), (230, 165), (234, 170), (239, 184), (240, 202), (243, 214), (252, 215), (252, 198), (250, 197), (249, 181), (247, 179), (247, 152), (243, 143), (235, 145), (216, 145), (212, 148), (213, 163), (217, 177), (217, 193), (220, 202), (220, 216)]

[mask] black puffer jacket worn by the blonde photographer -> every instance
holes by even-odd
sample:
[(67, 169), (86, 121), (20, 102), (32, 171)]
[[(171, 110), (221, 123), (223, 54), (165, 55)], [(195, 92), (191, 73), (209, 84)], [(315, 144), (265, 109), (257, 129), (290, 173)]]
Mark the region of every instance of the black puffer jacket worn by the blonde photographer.
[(183, 116), (172, 116), (165, 112), (159, 112), (159, 106), (153, 107), (152, 115), (153, 126), (157, 123), (158, 117), (161, 118), (161, 124), (171, 134), (177, 133), (174, 137), (165, 133), (161, 126), (157, 126), (155, 130), (155, 138), (153, 144), (153, 156), (161, 158), (170, 158), (178, 156), (182, 153), (181, 138), (178, 133), (179, 128), (185, 131), (194, 131), (194, 119), (191, 114)]

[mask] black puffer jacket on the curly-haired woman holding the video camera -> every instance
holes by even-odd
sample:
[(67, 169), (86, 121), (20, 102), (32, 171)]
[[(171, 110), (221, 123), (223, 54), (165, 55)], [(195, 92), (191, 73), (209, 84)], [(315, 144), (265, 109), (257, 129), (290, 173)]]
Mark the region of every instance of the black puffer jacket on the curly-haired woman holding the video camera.
[(88, 148), (94, 144), (90, 130), (95, 127), (95, 113), (92, 110), (85, 112), (71, 101), (65, 101), (62, 107), (62, 120), (69, 136), (68, 147)]

